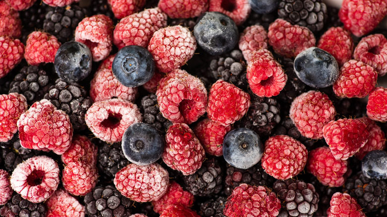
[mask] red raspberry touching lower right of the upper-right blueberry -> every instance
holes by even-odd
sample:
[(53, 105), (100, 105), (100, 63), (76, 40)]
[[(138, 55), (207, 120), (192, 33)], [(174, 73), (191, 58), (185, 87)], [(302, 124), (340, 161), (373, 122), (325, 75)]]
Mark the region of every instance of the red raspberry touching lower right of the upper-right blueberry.
[(370, 65), (354, 59), (344, 63), (333, 84), (333, 91), (341, 98), (364, 98), (374, 90), (378, 72)]

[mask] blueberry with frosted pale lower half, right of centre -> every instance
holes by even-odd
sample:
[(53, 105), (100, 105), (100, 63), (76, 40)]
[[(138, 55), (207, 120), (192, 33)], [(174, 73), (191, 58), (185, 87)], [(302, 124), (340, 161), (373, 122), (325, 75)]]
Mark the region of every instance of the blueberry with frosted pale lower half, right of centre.
[(223, 157), (227, 163), (240, 169), (257, 164), (263, 155), (263, 145), (256, 132), (238, 128), (226, 134), (223, 140)]

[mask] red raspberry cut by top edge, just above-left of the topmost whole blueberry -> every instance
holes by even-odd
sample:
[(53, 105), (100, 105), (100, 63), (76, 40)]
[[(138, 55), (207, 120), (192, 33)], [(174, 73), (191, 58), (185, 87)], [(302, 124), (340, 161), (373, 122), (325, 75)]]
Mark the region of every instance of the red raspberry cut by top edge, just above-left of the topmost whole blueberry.
[(209, 0), (160, 0), (158, 7), (168, 15), (175, 18), (193, 18), (208, 9)]

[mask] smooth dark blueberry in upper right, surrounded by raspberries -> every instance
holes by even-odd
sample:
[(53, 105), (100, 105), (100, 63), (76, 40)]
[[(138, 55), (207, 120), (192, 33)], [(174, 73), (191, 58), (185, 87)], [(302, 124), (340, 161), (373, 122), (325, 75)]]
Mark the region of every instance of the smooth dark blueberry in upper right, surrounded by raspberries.
[(314, 88), (333, 85), (339, 74), (336, 59), (328, 52), (312, 47), (294, 59), (294, 71), (302, 82)]

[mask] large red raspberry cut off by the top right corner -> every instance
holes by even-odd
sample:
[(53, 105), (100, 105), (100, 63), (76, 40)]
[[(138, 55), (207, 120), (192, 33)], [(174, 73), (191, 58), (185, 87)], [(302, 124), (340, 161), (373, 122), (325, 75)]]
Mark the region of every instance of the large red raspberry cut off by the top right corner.
[(386, 0), (343, 0), (338, 16), (357, 37), (371, 32), (387, 13)]

